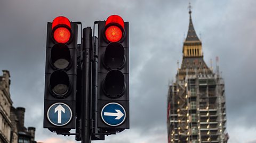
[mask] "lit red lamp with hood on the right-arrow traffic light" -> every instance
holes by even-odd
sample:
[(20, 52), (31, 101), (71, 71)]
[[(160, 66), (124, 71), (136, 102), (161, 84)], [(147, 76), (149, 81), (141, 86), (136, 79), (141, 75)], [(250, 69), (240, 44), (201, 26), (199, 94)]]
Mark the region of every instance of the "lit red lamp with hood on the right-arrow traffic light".
[(106, 24), (105, 35), (107, 40), (116, 42), (122, 39), (124, 31), (124, 20), (118, 15), (108, 17)]

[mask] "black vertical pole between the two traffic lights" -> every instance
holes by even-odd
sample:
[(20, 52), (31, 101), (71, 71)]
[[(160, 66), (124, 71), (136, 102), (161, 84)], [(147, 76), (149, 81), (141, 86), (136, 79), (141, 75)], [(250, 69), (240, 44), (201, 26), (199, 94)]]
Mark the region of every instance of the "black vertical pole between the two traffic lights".
[(82, 41), (82, 143), (91, 143), (91, 52), (92, 29), (83, 29)]

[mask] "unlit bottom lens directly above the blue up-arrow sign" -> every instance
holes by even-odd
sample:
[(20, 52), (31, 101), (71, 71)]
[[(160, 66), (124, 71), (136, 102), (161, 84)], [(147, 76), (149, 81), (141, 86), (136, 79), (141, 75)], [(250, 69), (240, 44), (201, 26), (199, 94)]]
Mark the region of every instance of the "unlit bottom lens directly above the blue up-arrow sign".
[(64, 71), (54, 71), (50, 78), (50, 87), (57, 98), (67, 97), (69, 90), (69, 78)]

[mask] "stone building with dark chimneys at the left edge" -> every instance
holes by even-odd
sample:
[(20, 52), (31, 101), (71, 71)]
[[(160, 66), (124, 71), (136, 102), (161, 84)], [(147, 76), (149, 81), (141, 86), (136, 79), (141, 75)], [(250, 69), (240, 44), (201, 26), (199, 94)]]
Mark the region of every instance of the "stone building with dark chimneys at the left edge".
[(25, 108), (12, 106), (10, 77), (7, 70), (3, 70), (3, 75), (0, 76), (0, 142), (36, 143), (36, 129), (24, 127)]

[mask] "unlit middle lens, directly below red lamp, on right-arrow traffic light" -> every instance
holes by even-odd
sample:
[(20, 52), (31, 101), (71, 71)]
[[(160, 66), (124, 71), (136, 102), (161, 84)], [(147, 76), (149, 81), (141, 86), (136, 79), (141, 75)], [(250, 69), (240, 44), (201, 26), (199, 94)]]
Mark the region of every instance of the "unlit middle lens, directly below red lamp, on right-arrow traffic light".
[(110, 69), (119, 69), (124, 65), (124, 47), (120, 43), (110, 43), (105, 51), (103, 63)]

